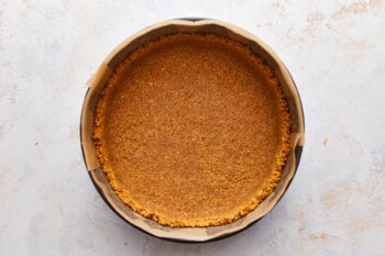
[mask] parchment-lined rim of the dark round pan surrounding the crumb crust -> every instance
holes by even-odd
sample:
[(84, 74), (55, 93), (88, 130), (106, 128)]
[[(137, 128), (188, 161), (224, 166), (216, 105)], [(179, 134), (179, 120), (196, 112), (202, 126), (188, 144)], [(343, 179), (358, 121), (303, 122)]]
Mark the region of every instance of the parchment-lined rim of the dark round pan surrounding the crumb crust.
[[(92, 141), (95, 109), (99, 96), (114, 68), (140, 46), (157, 40), (161, 36), (176, 33), (215, 34), (249, 46), (256, 56), (271, 67), (274, 75), (279, 80), (288, 102), (290, 114), (290, 152), (283, 169), (280, 181), (277, 183), (274, 191), (263, 200), (255, 210), (230, 224), (208, 227), (170, 227), (143, 218), (129, 205), (124, 204), (112, 190), (96, 154), (96, 147)], [(112, 51), (90, 79), (80, 119), (80, 142), (86, 167), (95, 187), (107, 204), (133, 226), (156, 237), (179, 242), (206, 242), (218, 240), (240, 232), (266, 215), (278, 203), (298, 168), (304, 146), (304, 133), (305, 123), (300, 98), (293, 78), (278, 56), (251, 33), (232, 24), (209, 19), (164, 21), (148, 26), (127, 38)]]

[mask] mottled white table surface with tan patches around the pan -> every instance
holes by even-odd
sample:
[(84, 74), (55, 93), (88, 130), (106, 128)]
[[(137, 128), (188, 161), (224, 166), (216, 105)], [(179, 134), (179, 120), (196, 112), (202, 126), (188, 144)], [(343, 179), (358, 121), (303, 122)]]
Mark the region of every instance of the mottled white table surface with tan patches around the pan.
[[(86, 82), (132, 33), (184, 16), (249, 30), (290, 70), (306, 144), (278, 205), (206, 244), (118, 218), (86, 171)], [(0, 0), (0, 255), (385, 255), (385, 2)]]

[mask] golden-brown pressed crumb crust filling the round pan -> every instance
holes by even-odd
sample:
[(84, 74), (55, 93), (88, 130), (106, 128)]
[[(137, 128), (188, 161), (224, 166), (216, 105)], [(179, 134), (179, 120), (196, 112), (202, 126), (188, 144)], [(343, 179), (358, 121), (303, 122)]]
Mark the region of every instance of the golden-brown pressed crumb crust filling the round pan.
[(276, 187), (289, 114), (246, 46), (176, 34), (136, 49), (101, 93), (94, 141), (120, 199), (169, 226), (231, 223)]

